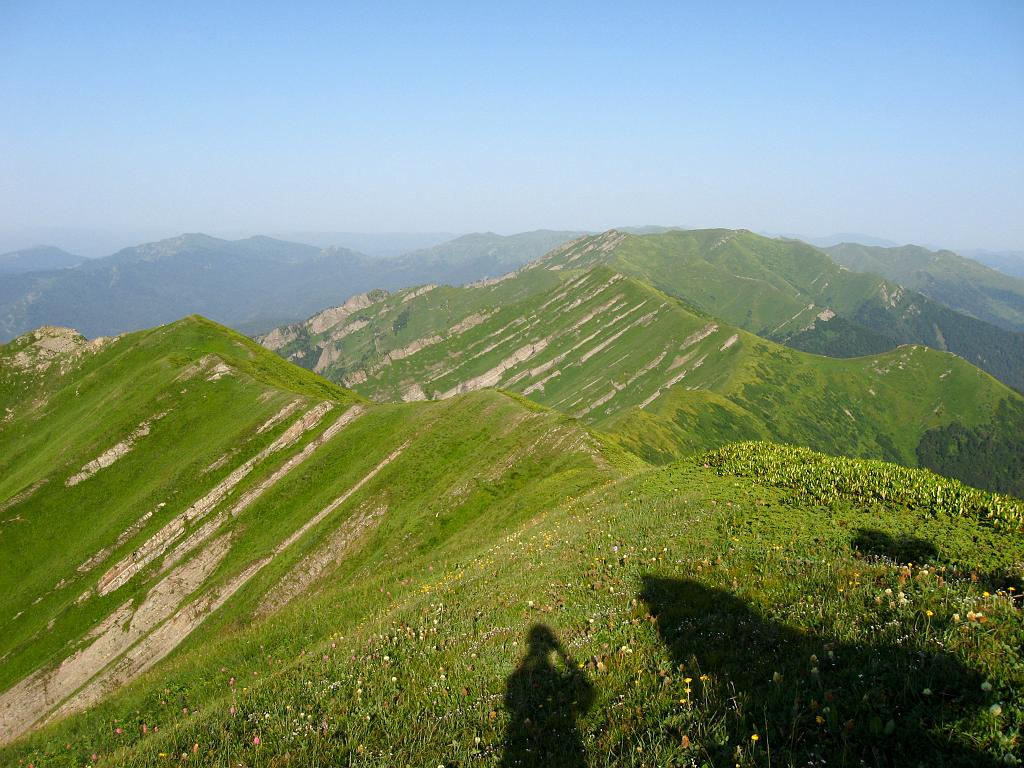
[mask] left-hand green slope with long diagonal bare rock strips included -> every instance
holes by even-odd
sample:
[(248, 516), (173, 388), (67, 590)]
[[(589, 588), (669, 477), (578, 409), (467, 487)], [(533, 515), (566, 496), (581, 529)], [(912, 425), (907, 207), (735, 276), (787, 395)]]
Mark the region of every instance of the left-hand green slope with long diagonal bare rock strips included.
[(198, 317), (100, 342), (41, 329), (0, 361), (2, 740), (212, 613), (287, 604), (367, 537), (412, 562), (616, 474), (555, 414), (494, 392), (371, 407)]

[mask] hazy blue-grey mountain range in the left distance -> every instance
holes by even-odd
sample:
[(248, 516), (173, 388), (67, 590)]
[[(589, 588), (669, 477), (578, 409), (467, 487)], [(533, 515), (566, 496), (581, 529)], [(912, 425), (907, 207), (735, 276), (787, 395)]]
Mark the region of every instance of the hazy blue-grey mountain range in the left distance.
[(43, 325), (110, 336), (188, 313), (261, 332), (308, 316), (339, 295), (401, 288), (428, 276), (452, 283), (484, 278), (571, 237), (469, 236), (402, 257), (375, 258), (265, 237), (183, 234), (80, 260), (70, 269), (0, 278), (0, 340)]

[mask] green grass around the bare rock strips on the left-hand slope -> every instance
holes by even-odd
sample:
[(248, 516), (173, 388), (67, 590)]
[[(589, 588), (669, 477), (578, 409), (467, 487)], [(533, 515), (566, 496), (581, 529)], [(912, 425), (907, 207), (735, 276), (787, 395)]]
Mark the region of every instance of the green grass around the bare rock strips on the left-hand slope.
[[(229, 367), (219, 378), (212, 375), (218, 362)], [(20, 379), (36, 377), (14, 369), (7, 373), (15, 390)], [(494, 536), (553, 500), (616, 476), (622, 470), (613, 464), (630, 464), (564, 417), (524, 409), (493, 391), (445, 403), (371, 408), (316, 447), (313, 441), (348, 408), (365, 407), (360, 399), (200, 318), (83, 354), (38, 394), (45, 394), (44, 402), (12, 400), (15, 416), (0, 430), (7, 469), (2, 493), (9, 500), (0, 568), (3, 688), (93, 646), (89, 633), (126, 601), (138, 611), (168, 573), (178, 572), (168, 570), (174, 547), (245, 495), (259, 492), (307, 449), (311, 454), (303, 463), (186, 554), (187, 565), (214, 552), (224, 537), (229, 543), (212, 570), (173, 598), (171, 612), (217, 600), (249, 568), (259, 565), (259, 570), (185, 642), (202, 643), (223, 627), (250, 621), (265, 593), (304, 567), (300, 563), (319, 556), (335, 531), (367, 510), (384, 512), (370, 528), (381, 541), (373, 548), (375, 557), (415, 569), (422, 553), (435, 556), (466, 538)], [(133, 552), (198, 499), (256, 461), (302, 413), (324, 401), (323, 395), (333, 410), (293, 444), (258, 461), (211, 513), (185, 522), (166, 556), (111, 594), (93, 592), (104, 572), (131, 561)], [(296, 398), (300, 406), (292, 416), (259, 433), (262, 423)], [(67, 484), (89, 461), (137, 432), (140, 423), (150, 424), (148, 433), (137, 436), (123, 457)], [(352, 494), (344, 503), (281, 550), (282, 542), (298, 536), (304, 522), (346, 489)], [(351, 544), (359, 542), (356, 537)], [(351, 562), (360, 562), (357, 553)], [(155, 627), (137, 640), (146, 642)], [(111, 658), (139, 647), (126, 641)]]

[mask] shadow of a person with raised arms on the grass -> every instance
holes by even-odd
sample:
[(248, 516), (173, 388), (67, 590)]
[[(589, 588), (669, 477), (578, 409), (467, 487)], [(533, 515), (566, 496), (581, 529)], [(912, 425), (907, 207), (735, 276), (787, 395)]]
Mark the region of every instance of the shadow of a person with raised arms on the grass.
[(551, 629), (541, 624), (530, 628), (526, 655), (505, 691), (511, 723), (502, 766), (587, 765), (577, 720), (590, 709), (594, 687)]

